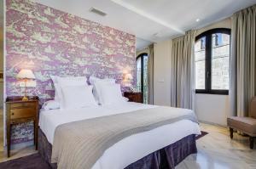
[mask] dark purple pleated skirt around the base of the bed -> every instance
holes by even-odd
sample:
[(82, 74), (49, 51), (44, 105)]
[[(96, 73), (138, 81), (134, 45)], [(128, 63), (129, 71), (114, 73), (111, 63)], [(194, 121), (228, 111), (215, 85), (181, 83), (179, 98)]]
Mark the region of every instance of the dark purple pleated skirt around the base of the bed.
[[(52, 145), (41, 129), (38, 131), (38, 152), (52, 168), (57, 168), (56, 163), (50, 163)], [(174, 169), (178, 163), (188, 155), (197, 153), (195, 135), (189, 135), (174, 144), (159, 149), (142, 159), (126, 166), (125, 169)]]

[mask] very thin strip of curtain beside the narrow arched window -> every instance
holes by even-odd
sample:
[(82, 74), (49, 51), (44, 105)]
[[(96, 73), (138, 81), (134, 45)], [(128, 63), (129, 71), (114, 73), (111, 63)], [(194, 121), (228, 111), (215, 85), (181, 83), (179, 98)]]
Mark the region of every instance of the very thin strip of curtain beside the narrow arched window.
[(148, 46), (148, 104), (154, 104), (154, 44)]

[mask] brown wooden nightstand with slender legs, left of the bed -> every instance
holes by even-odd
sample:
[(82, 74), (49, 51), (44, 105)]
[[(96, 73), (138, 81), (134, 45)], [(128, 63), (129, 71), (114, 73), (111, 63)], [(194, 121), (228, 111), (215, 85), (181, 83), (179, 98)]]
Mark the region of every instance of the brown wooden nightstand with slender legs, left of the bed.
[(6, 128), (7, 128), (7, 155), (11, 144), (11, 126), (33, 121), (34, 144), (38, 149), (38, 97), (30, 97), (22, 101), (22, 97), (8, 97), (6, 99)]

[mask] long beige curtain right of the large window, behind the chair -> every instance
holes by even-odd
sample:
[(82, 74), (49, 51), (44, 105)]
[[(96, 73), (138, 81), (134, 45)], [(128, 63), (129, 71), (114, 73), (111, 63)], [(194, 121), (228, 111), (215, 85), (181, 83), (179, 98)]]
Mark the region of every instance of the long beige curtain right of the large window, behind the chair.
[(256, 95), (256, 5), (232, 16), (230, 115), (247, 116)]

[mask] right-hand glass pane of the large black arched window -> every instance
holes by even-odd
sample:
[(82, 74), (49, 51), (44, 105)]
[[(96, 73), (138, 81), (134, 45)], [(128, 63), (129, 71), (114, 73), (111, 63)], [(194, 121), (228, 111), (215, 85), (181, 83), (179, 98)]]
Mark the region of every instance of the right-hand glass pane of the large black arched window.
[(230, 35), (212, 34), (212, 89), (229, 89)]

